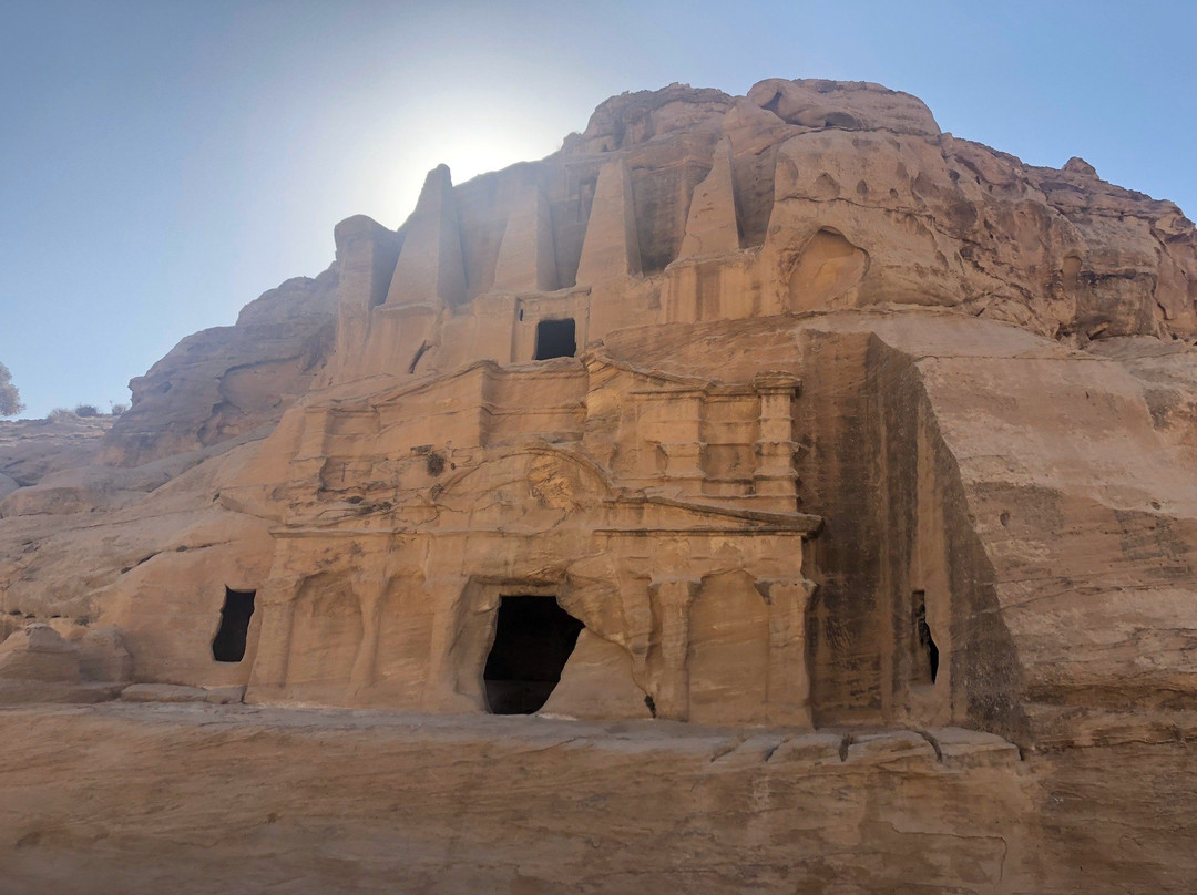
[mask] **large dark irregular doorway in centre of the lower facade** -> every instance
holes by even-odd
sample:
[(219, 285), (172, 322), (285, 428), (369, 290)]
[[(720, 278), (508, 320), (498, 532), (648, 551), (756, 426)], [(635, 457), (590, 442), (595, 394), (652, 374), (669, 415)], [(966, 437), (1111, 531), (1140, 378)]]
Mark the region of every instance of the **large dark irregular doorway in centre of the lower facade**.
[(482, 680), (492, 714), (540, 711), (583, 625), (552, 597), (503, 597)]

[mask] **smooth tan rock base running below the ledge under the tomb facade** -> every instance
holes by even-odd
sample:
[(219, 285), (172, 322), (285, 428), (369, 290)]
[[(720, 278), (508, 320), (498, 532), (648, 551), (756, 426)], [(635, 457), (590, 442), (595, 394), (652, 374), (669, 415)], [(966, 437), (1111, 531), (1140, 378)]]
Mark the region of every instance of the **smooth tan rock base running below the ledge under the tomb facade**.
[(1144, 879), (1183, 895), (1197, 873), (1191, 725), (1187, 748), (1020, 760), (954, 729), (746, 735), (128, 704), (0, 720), (14, 895), (1120, 895)]

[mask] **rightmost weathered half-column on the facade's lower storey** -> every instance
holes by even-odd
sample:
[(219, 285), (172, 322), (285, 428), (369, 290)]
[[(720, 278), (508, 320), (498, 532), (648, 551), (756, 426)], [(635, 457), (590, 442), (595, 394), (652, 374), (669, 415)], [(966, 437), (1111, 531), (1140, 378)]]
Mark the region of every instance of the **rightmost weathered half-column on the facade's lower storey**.
[(815, 585), (806, 578), (784, 578), (758, 580), (757, 590), (768, 604), (768, 722), (810, 726), (806, 617)]

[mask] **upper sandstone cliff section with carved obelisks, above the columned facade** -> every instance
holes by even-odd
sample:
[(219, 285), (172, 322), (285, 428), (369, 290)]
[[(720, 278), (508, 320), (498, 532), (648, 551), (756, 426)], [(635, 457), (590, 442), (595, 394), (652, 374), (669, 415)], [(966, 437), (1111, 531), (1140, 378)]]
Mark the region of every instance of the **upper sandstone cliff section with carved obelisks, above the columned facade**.
[(1175, 206), (1080, 159), (1033, 168), (942, 134), (877, 85), (626, 95), (542, 162), (451, 191), (448, 177), (400, 232), (412, 258), (452, 269), (460, 298), (421, 292), (423, 262), (400, 251), (385, 302), (342, 319), (360, 335), (338, 380), (524, 360), (527, 339), (503, 330), (546, 316), (577, 317), (579, 345), (646, 319), (894, 304), (1070, 345), (1197, 334), (1197, 235)]

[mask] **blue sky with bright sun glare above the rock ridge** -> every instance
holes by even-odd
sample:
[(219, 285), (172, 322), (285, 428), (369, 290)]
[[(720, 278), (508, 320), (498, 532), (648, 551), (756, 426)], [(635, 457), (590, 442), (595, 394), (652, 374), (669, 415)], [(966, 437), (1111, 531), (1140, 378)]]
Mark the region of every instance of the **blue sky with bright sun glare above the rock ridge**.
[(26, 415), (397, 226), (439, 162), (540, 158), (625, 90), (880, 81), (1197, 215), (1197, 2), (0, 0), (0, 363)]

